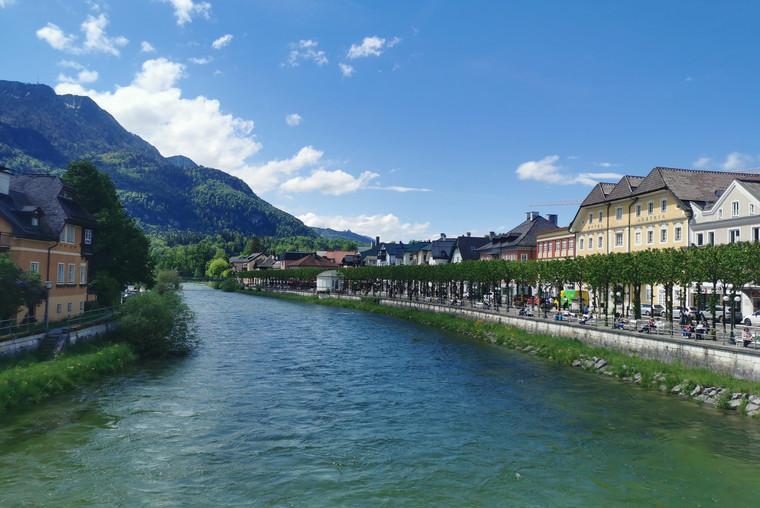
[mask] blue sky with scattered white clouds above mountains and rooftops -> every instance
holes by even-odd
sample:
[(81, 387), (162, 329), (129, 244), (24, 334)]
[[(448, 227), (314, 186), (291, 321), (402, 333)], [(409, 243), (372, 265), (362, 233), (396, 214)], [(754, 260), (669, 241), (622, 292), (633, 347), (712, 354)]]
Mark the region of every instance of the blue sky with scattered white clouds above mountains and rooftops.
[(614, 174), (760, 166), (759, 20), (732, 1), (0, 0), (0, 64), (307, 223), (407, 240), (566, 223), (556, 203)]

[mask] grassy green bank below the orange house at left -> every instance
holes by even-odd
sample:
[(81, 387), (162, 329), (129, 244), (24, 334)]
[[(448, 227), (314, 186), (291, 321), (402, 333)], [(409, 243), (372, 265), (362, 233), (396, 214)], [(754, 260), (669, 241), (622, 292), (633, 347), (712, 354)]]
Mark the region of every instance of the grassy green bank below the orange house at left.
[(47, 361), (22, 360), (0, 371), (0, 416), (123, 371), (137, 355), (124, 343), (88, 344)]

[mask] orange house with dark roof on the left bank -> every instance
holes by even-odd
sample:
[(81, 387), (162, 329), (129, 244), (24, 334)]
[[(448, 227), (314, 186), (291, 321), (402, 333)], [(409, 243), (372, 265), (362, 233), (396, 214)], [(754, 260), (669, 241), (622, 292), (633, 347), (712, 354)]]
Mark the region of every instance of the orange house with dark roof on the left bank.
[(38, 321), (46, 308), (50, 320), (84, 312), (95, 225), (60, 178), (14, 175), (0, 167), (0, 252), (39, 274), (48, 288), (47, 305), (34, 312)]

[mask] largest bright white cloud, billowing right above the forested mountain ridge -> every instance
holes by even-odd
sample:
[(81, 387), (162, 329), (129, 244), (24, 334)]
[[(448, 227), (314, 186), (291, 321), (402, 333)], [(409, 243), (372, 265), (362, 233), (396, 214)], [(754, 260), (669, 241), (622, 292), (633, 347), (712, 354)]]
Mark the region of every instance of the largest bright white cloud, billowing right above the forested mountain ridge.
[(221, 111), (219, 101), (182, 96), (177, 87), (184, 65), (165, 58), (147, 60), (133, 81), (99, 92), (59, 83), (59, 94), (88, 95), (124, 128), (156, 146), (164, 155), (186, 155), (199, 164), (236, 172), (261, 148), (253, 122)]

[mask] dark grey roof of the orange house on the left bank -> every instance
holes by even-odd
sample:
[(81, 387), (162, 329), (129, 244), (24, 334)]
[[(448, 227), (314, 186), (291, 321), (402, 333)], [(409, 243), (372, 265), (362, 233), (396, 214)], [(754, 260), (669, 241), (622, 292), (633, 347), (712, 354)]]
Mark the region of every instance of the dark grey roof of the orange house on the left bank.
[[(0, 215), (22, 238), (57, 240), (66, 223), (96, 226), (95, 218), (74, 200), (73, 190), (51, 175), (11, 175), (8, 194), (0, 195)], [(39, 226), (31, 223), (34, 215)]]

